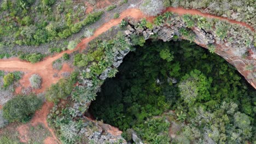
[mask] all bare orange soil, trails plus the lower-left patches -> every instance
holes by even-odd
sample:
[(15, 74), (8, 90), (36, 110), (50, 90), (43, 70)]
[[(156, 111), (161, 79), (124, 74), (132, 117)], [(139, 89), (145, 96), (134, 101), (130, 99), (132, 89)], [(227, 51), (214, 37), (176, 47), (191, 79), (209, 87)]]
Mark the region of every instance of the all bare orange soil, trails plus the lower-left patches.
[[(109, 2), (109, 1), (106, 1)], [(98, 7), (100, 7), (101, 5), (98, 5)], [(210, 17), (210, 18), (215, 18), (215, 19), (220, 19), (220, 20), (228, 20), (226, 18), (223, 17), (218, 17), (218, 16), (213, 16), (210, 14), (203, 14), (200, 11), (197, 10), (187, 10), (187, 9), (182, 9), (182, 8), (168, 8), (166, 11), (172, 11), (173, 13), (178, 13), (180, 15), (183, 14), (192, 14), (192, 15), (201, 15), (201, 16), (205, 16), (205, 17)], [(60, 77), (53, 77), (54, 73), (58, 73), (60, 74), (62, 71), (72, 71), (71, 68), (68, 67), (67, 64), (63, 65), (63, 68), (61, 71), (57, 71), (54, 70), (52, 67), (52, 63), (60, 58), (63, 53), (72, 53), (73, 51), (77, 51), (77, 50), (83, 50), (86, 48), (87, 44), (89, 43), (89, 41), (91, 41), (92, 39), (98, 37), (98, 35), (108, 31), (109, 28), (113, 27), (113, 26), (117, 26), (121, 20), (123, 20), (125, 17), (133, 17), (135, 19), (141, 19), (142, 17), (146, 17), (145, 15), (142, 14), (141, 11), (139, 11), (138, 9), (126, 9), (125, 11), (123, 11), (123, 13), (120, 14), (119, 19), (112, 19), (109, 22), (104, 23), (100, 28), (98, 28), (94, 35), (92, 35), (92, 37), (90, 38), (85, 38), (83, 39), (74, 50), (67, 50), (61, 53), (58, 53), (56, 55), (54, 55), (53, 57), (49, 56), (43, 59), (43, 61), (38, 62), (36, 64), (31, 64), (28, 62), (24, 62), (19, 60), (18, 58), (9, 58), (9, 59), (1, 59), (0, 60), (0, 69), (1, 70), (8, 70), (8, 71), (14, 71), (14, 70), (19, 70), (19, 71), (26, 71), (24, 77), (22, 77), (22, 79), (20, 80), (20, 83), (23, 87), (28, 87), (30, 85), (28, 79), (32, 74), (39, 74), (42, 77), (42, 87), (40, 89), (37, 90), (33, 90), (36, 93), (40, 93), (45, 91), (45, 88), (49, 87), (51, 85), (51, 83), (55, 83), (57, 82)], [(151, 17), (150, 19), (152, 19), (153, 17)], [(249, 25), (247, 25), (244, 22), (237, 22), (234, 20), (228, 20), (231, 23), (237, 23), (239, 25), (248, 27), (250, 29), (253, 30), (253, 28)], [(16, 93), (20, 93), (21, 88), (17, 88), (16, 89)], [(43, 123), (45, 125), (46, 128), (49, 129), (50, 133), (53, 135), (53, 137), (48, 137), (48, 139), (46, 139), (44, 142), (45, 143), (52, 143), (53, 140), (56, 140), (57, 143), (60, 143), (59, 140), (57, 140), (54, 131), (52, 129), (50, 129), (48, 127), (48, 123), (46, 122), (46, 117), (51, 109), (51, 107), (53, 106), (53, 104), (47, 102), (43, 105), (41, 110), (38, 110), (36, 112), (36, 114), (34, 115), (33, 119), (31, 120), (31, 124), (32, 125), (37, 125), (38, 123)], [(26, 124), (25, 124), (26, 125)], [(21, 125), (18, 128), (18, 131), (20, 133), (21, 136), (24, 136), (24, 139), (21, 139), (21, 141), (26, 141), (26, 126)]]

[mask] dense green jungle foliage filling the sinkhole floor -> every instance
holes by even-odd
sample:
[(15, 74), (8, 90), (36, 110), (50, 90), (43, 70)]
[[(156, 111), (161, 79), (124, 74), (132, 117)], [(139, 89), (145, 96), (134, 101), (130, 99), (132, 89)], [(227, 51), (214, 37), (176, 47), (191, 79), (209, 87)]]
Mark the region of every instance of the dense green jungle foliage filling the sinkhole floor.
[[(132, 128), (149, 143), (254, 141), (255, 90), (218, 55), (188, 41), (147, 41), (118, 71), (104, 82), (90, 111), (127, 130), (127, 140)], [(154, 118), (169, 110), (183, 125), (177, 139), (166, 134), (170, 123)]]

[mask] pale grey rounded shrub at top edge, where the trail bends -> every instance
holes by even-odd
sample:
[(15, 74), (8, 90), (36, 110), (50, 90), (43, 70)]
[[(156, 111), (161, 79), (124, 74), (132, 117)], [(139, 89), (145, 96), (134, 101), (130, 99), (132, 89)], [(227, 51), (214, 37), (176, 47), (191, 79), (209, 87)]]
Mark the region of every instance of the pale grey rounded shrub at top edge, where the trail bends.
[(156, 16), (164, 10), (164, 4), (162, 0), (144, 0), (139, 9), (146, 15)]

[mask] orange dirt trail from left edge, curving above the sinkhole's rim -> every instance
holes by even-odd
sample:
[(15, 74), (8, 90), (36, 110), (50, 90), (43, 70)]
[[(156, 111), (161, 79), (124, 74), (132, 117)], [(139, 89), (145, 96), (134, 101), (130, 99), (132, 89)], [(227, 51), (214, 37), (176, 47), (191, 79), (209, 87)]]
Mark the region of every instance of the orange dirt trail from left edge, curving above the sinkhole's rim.
[[(188, 9), (183, 9), (183, 8), (167, 8), (165, 11), (171, 11), (173, 13), (177, 13), (179, 15), (183, 15), (183, 14), (191, 14), (191, 15), (200, 15), (200, 16), (204, 16), (204, 17), (210, 17), (210, 18), (214, 18), (214, 19), (219, 19), (219, 20), (228, 20), (224, 17), (219, 17), (219, 16), (214, 16), (214, 15), (210, 15), (210, 14), (204, 14), (201, 13), (199, 10), (188, 10)], [(46, 87), (49, 87), (51, 85), (51, 83), (55, 83), (57, 82), (61, 77), (53, 77), (53, 75), (55, 73), (62, 73), (65, 70), (68, 71), (72, 71), (71, 68), (66, 68), (63, 69), (61, 71), (57, 71), (55, 69), (53, 69), (52, 67), (52, 63), (60, 58), (63, 53), (72, 53), (73, 51), (77, 51), (77, 50), (83, 50), (86, 48), (87, 44), (92, 40), (95, 39), (96, 37), (98, 37), (98, 35), (108, 31), (109, 28), (113, 27), (113, 26), (117, 26), (121, 20), (123, 20), (125, 17), (133, 17), (135, 19), (141, 19), (142, 17), (146, 17), (145, 15), (143, 15), (143, 13), (138, 10), (138, 9), (126, 9), (125, 11), (123, 11), (120, 14), (119, 19), (112, 19), (106, 23), (104, 23), (100, 28), (98, 28), (94, 35), (92, 35), (92, 37), (90, 38), (85, 38), (83, 39), (74, 50), (67, 50), (67, 51), (63, 51), (61, 53), (58, 53), (54, 56), (49, 56), (43, 59), (43, 61), (38, 62), (36, 64), (32, 64), (29, 62), (24, 62), (21, 61), (18, 58), (10, 58), (10, 59), (1, 59), (0, 60), (0, 70), (9, 70), (9, 71), (14, 71), (14, 70), (19, 70), (19, 71), (26, 71), (24, 77), (21, 79), (21, 85), (22, 86), (29, 86), (29, 82), (28, 82), (28, 78), (32, 75), (32, 74), (39, 74), (42, 79), (42, 88), (38, 89), (38, 90), (34, 90), (34, 92), (39, 93), (39, 92), (43, 92), (45, 90)], [(153, 19), (153, 17), (149, 17), (150, 20)], [(250, 28), (253, 30), (253, 28), (249, 25), (247, 25), (244, 22), (238, 22), (238, 21), (234, 21), (234, 20), (228, 20), (231, 23), (237, 23), (238, 25), (242, 25), (245, 26), (247, 28)], [(19, 87), (16, 92), (20, 92), (21, 88)]]

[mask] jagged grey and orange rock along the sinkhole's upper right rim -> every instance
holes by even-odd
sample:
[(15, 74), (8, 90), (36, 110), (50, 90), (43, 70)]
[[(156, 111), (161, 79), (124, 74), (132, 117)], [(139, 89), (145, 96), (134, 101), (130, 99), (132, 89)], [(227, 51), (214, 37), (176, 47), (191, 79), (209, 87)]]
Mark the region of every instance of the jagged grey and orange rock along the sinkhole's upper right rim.
[[(128, 26), (127, 31), (125, 31), (126, 37), (129, 38), (131, 34), (137, 34), (143, 35), (145, 39), (149, 39), (151, 35), (157, 34), (158, 39), (162, 39), (163, 41), (170, 41), (173, 38), (173, 35), (178, 35), (181, 39), (188, 39), (182, 37), (179, 33), (179, 29), (184, 27), (184, 22), (181, 20), (174, 21), (173, 25), (169, 26), (154, 26), (153, 29), (133, 27), (134, 26)], [(247, 47), (242, 44), (242, 41), (239, 40), (240, 38), (238, 36), (235, 36), (235, 39), (232, 42), (229, 42), (226, 39), (220, 40), (216, 34), (207, 32), (196, 26), (191, 28), (191, 31), (195, 34), (193, 41), (197, 45), (205, 47), (206, 49), (208, 49), (210, 44), (214, 45), (216, 47), (215, 53), (234, 65), (234, 67), (245, 76), (245, 79), (256, 88), (256, 51), (253, 44), (247, 49)], [(244, 53), (248, 53), (248, 56), (244, 57)], [(119, 65), (119, 63), (117, 63), (117, 65)]]

